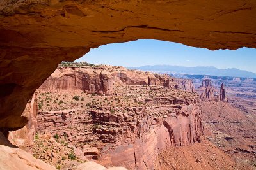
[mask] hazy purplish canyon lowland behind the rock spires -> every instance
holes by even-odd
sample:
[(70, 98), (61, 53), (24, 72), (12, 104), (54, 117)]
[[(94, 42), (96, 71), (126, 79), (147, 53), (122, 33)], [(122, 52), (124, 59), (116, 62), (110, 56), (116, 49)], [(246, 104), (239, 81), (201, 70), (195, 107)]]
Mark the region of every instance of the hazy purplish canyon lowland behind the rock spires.
[(223, 83), (226, 89), (226, 98), (228, 103), (242, 111), (246, 115), (256, 114), (256, 78), (236, 78), (224, 76), (203, 76), (203, 75), (185, 75), (182, 78), (193, 80), (195, 91), (201, 94), (205, 88), (202, 88), (202, 81), (211, 80), (214, 86), (214, 95), (220, 93), (220, 87)]

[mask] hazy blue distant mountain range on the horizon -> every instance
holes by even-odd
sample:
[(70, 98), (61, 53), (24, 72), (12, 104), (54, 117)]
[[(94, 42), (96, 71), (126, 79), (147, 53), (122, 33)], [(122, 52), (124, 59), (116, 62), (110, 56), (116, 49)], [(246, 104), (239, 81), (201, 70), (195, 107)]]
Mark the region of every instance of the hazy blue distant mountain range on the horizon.
[(156, 73), (167, 74), (192, 74), (192, 75), (210, 75), (210, 76), (232, 76), (232, 77), (245, 77), (256, 78), (256, 73), (244, 71), (240, 69), (217, 69), (216, 67), (184, 67), (184, 66), (170, 66), (170, 65), (154, 65), (154, 66), (141, 66), (129, 67), (129, 69), (139, 69), (142, 71), (152, 71)]

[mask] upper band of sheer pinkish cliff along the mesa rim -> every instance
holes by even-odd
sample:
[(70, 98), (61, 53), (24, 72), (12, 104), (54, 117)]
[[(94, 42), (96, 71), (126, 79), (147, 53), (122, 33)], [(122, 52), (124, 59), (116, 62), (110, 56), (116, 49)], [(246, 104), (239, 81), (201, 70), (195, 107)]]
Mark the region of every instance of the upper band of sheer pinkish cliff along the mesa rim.
[[(104, 70), (108, 71), (104, 71)], [(170, 89), (193, 92), (191, 80), (171, 78), (168, 75), (128, 70), (124, 67), (95, 66), (90, 68), (58, 67), (41, 85), (48, 90), (84, 90), (88, 93), (112, 94), (115, 84), (162, 85)]]

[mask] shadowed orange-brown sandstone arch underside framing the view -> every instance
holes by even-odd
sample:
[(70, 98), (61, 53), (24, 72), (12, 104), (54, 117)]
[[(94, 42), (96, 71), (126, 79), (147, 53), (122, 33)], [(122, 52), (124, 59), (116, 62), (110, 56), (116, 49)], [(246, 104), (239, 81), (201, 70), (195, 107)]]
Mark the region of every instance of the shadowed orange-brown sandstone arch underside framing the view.
[(0, 127), (18, 129), (27, 101), (62, 60), (90, 48), (160, 39), (200, 48), (256, 48), (253, 0), (1, 0)]

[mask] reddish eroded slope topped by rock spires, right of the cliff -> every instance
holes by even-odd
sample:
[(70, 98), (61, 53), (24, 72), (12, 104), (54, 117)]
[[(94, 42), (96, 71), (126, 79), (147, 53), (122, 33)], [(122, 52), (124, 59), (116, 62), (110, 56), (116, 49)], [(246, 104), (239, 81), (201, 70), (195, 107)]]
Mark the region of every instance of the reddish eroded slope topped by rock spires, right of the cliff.
[(248, 115), (225, 102), (225, 87), (214, 96), (212, 81), (205, 79), (198, 90), (202, 92), (202, 122), (205, 136), (237, 162), (255, 166), (256, 162), (256, 115)]

